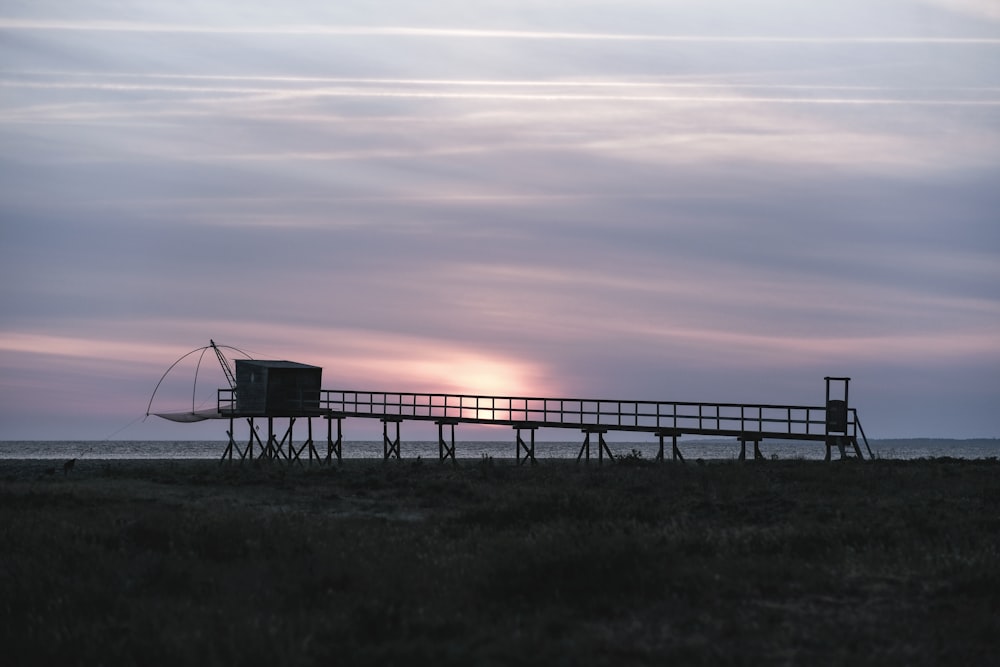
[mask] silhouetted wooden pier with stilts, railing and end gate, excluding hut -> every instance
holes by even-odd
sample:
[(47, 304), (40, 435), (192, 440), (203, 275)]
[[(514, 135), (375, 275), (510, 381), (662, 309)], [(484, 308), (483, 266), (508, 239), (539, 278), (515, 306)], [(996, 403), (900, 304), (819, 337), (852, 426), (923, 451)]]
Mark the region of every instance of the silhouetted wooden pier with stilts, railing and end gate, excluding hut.
[[(456, 457), (455, 427), (460, 424), (490, 424), (515, 430), (515, 460), (518, 464), (535, 463), (535, 434), (538, 429), (573, 429), (583, 434), (578, 460), (589, 461), (592, 448), (603, 462), (614, 456), (605, 442), (609, 432), (645, 433), (658, 439), (657, 460), (665, 460), (665, 441), (670, 440), (670, 457), (683, 460), (679, 438), (685, 435), (732, 437), (740, 444), (740, 460), (747, 458), (752, 445), (754, 459), (763, 459), (763, 440), (804, 440), (822, 443), (826, 460), (837, 448), (841, 458), (864, 459), (861, 443), (868, 457), (871, 449), (857, 411), (848, 407), (850, 378), (827, 377), (825, 405), (772, 405), (755, 403), (693, 403), (673, 401), (637, 401), (618, 399), (544, 398), (483, 396), (470, 394), (380, 392), (356, 390), (318, 390), (318, 400), (309, 393), (295, 409), (261, 411), (245, 409), (236, 399), (236, 387), (218, 390), (214, 414), (205, 418), (229, 419), (229, 443), (223, 458), (236, 454), (245, 458), (275, 458), (288, 461), (341, 461), (344, 446), (344, 421), (378, 419), (383, 426), (383, 454), (386, 460), (402, 456), (401, 424), (406, 421), (433, 422), (438, 427), (438, 452), (441, 461)], [(831, 398), (831, 389), (839, 385), (842, 399)], [(326, 452), (320, 455), (313, 439), (313, 418), (325, 419)], [(235, 422), (246, 419), (250, 436), (246, 444), (236, 441)], [(257, 420), (267, 420), (267, 439), (261, 439)], [(287, 419), (287, 430), (275, 431), (275, 419)], [(297, 420), (307, 420), (307, 437), (293, 444), (292, 429)], [(280, 435), (280, 439), (279, 439)], [(525, 439), (527, 437), (527, 440)]]

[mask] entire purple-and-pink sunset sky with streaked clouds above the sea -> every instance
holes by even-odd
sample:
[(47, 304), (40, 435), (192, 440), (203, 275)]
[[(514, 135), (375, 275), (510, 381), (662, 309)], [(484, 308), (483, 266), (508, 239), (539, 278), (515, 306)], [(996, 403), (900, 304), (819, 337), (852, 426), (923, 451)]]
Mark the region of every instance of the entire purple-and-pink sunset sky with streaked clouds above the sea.
[(210, 339), (1000, 437), (1000, 3), (0, 4), (0, 440), (224, 438)]

